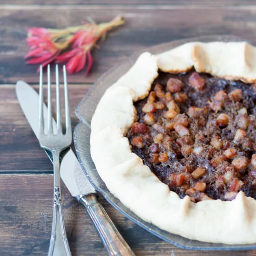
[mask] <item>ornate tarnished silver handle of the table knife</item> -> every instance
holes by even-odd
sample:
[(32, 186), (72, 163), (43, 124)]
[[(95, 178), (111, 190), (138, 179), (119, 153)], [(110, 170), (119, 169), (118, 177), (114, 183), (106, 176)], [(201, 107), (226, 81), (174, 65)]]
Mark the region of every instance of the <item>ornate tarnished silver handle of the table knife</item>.
[(107, 212), (97, 200), (96, 194), (84, 195), (80, 201), (87, 209), (101, 237), (101, 241), (111, 256), (135, 256), (125, 242)]

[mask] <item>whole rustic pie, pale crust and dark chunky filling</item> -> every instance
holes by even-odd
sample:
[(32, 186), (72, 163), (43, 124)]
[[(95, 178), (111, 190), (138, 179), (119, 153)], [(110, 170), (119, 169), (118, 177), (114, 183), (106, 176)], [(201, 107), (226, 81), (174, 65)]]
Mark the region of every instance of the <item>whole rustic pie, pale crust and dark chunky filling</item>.
[(143, 53), (99, 102), (91, 156), (144, 221), (189, 239), (256, 243), (256, 47)]

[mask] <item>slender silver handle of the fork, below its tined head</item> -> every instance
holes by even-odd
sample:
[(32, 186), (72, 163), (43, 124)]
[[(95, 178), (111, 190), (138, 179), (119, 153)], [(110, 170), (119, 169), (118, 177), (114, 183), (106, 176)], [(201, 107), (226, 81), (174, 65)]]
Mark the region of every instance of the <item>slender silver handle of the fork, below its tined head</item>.
[(60, 151), (52, 151), (54, 163), (54, 211), (48, 256), (71, 256), (61, 202)]

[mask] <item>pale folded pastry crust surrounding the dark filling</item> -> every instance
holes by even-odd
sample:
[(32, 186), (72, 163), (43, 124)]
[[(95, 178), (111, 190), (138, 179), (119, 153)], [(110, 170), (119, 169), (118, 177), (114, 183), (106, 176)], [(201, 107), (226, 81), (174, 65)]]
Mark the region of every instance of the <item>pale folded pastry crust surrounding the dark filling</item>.
[(256, 200), (241, 191), (233, 201), (190, 202), (175, 192), (131, 151), (125, 137), (135, 121), (133, 101), (148, 95), (158, 69), (195, 67), (225, 79), (256, 81), (256, 48), (245, 42), (191, 42), (156, 56), (143, 53), (102, 96), (91, 121), (91, 156), (113, 193), (141, 219), (189, 239), (212, 243), (256, 243)]

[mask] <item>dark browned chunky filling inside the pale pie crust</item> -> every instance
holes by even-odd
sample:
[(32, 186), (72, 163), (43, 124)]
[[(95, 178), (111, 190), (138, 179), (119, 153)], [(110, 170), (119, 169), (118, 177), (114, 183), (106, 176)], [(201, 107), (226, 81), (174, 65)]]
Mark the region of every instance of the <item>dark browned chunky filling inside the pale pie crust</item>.
[(181, 198), (256, 199), (256, 86), (194, 70), (160, 73), (137, 101), (132, 150)]

